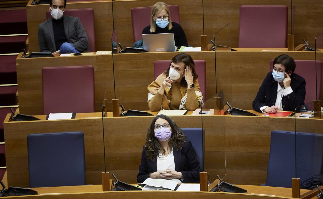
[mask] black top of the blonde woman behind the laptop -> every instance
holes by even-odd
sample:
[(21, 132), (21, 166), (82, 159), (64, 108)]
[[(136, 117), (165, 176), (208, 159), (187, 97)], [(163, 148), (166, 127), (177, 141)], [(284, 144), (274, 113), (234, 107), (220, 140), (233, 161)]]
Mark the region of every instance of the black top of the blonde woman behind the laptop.
[(176, 22), (172, 22), (172, 25), (173, 27), (171, 30), (168, 30), (168, 25), (165, 28), (161, 28), (156, 25), (156, 31), (154, 33), (150, 32), (150, 25), (148, 25), (142, 30), (142, 34), (174, 33), (175, 45), (177, 48), (188, 46), (187, 39), (181, 25)]

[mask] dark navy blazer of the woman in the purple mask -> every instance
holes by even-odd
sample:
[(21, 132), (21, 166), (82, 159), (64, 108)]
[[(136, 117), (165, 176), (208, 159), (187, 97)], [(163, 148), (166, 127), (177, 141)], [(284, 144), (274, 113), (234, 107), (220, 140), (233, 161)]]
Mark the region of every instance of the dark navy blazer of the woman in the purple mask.
[[(181, 150), (173, 147), (175, 170), (183, 174), (183, 183), (200, 183), (200, 162), (197, 159), (196, 152), (191, 141), (186, 141)], [(139, 174), (137, 175), (138, 183), (143, 183), (150, 173), (157, 171), (157, 155), (154, 162), (147, 158), (145, 148), (142, 149), (141, 164)]]

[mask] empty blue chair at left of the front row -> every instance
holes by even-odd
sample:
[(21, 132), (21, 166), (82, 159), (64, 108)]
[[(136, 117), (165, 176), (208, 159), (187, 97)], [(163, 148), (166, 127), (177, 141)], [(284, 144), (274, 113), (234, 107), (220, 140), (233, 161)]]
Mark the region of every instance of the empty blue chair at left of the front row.
[(82, 132), (30, 134), (27, 144), (30, 187), (85, 185)]

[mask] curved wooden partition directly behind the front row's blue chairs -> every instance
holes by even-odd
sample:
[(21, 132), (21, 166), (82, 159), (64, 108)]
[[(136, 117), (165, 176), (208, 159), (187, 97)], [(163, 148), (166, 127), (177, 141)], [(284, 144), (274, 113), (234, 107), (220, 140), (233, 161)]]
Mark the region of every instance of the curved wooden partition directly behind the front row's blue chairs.
[[(29, 186), (27, 135), (82, 131), (85, 141), (86, 183), (101, 184), (104, 170), (102, 118), (97, 114), (77, 114), (77, 119), (4, 122), (7, 179), (9, 186)], [(110, 115), (109, 113), (108, 115)], [(36, 116), (44, 118), (44, 116)], [(200, 115), (172, 116), (180, 127), (201, 128)], [(137, 181), (142, 145), (153, 116), (106, 117), (105, 131), (107, 171), (122, 181)], [(297, 118), (297, 131), (322, 133), (322, 119)], [(270, 132), (295, 130), (293, 117), (205, 115), (204, 170), (226, 176), (233, 184), (259, 185), (266, 182), (270, 149)], [(116, 150), (118, 149), (118, 150)], [(112, 179), (112, 177), (110, 177)]]

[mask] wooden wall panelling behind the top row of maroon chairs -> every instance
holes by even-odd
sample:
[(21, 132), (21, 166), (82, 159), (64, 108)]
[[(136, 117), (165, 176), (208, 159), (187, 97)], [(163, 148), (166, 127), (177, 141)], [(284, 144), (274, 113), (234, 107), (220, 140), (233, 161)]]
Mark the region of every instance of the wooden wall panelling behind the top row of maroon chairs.
[[(46, 20), (48, 5), (27, 4), (27, 25), (29, 36), (29, 49), (31, 52), (39, 51), (37, 31), (38, 25)], [(200, 35), (208, 35), (208, 43), (213, 39), (214, 33), (230, 23), (230, 32), (225, 33), (225, 38), (219, 41), (222, 45), (238, 47), (239, 41), (239, 8), (241, 5), (287, 5), (288, 6), (288, 33), (290, 34), (290, 13), (293, 13), (293, 34), (295, 34), (295, 46), (304, 44), (303, 39), (314, 46), (314, 38), (322, 33), (322, 2), (320, 1), (293, 1), (293, 9), (290, 11), (290, 0), (172, 0), (164, 1), (167, 5), (177, 4), (180, 10), (181, 26), (187, 37), (189, 45), (201, 46)], [(131, 8), (152, 6), (153, 0), (113, 1), (113, 13), (111, 1), (81, 1), (68, 2), (67, 9), (93, 8), (95, 15), (95, 40), (96, 50), (111, 49), (112, 15), (114, 26), (117, 27), (118, 42), (124, 47), (132, 46), (133, 31), (131, 22)], [(193, 9), (192, 9), (193, 8)], [(204, 17), (204, 23), (203, 23)], [(149, 24), (147, 24), (149, 25)], [(203, 27), (204, 25), (204, 27)], [(203, 30), (204, 29), (204, 30)], [(221, 33), (220, 33), (221, 34)]]

